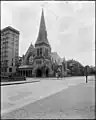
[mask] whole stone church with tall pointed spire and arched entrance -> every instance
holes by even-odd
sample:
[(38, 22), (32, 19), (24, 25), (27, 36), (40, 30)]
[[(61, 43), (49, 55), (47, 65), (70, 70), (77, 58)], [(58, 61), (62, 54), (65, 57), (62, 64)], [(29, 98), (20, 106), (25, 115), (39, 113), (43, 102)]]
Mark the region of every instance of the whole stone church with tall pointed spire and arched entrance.
[(56, 52), (51, 52), (51, 46), (47, 39), (44, 11), (42, 9), (39, 33), (35, 45), (29, 46), (22, 58), (22, 65), (19, 67), (20, 76), (28, 77), (52, 77), (54, 75), (53, 63), (57, 63), (61, 68), (62, 59)]

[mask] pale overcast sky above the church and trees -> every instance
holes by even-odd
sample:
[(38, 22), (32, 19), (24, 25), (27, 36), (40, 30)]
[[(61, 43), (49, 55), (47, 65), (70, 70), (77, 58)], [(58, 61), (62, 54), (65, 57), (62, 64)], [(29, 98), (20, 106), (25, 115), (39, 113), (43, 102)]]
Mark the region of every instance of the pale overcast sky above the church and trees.
[(37, 40), (42, 7), (52, 52), (94, 66), (94, 1), (1, 1), (1, 29), (11, 26), (20, 31), (19, 55)]

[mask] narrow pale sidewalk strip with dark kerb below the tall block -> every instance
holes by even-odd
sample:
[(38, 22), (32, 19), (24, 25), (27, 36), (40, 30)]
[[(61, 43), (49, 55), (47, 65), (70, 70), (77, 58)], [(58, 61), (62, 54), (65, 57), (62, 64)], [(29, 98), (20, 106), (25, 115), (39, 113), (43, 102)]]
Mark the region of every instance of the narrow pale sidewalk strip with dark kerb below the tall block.
[(26, 78), (25, 81), (12, 81), (12, 82), (1, 82), (1, 86), (5, 85), (18, 85), (18, 84), (25, 84), (25, 83), (32, 83), (32, 82), (40, 82), (40, 79), (32, 79)]

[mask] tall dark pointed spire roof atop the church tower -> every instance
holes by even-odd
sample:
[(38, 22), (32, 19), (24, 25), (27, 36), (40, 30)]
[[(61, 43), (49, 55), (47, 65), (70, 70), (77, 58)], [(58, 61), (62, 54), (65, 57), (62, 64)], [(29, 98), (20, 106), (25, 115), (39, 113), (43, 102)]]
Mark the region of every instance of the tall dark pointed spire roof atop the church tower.
[(48, 39), (47, 39), (47, 31), (46, 31), (46, 26), (45, 26), (43, 9), (42, 9), (42, 14), (41, 14), (39, 34), (38, 34), (38, 38), (37, 38), (37, 41), (36, 41), (35, 45), (39, 45), (41, 43), (45, 43), (45, 44), (49, 45), (49, 42), (48, 42)]

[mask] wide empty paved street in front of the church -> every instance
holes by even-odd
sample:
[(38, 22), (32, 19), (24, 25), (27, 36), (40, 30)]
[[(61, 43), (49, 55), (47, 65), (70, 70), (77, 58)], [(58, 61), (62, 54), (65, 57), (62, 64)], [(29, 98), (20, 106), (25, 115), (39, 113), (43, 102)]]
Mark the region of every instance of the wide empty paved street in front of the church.
[(4, 119), (94, 118), (95, 77), (89, 76), (88, 83), (85, 82), (85, 77), (66, 77), (2, 86), (1, 116)]

